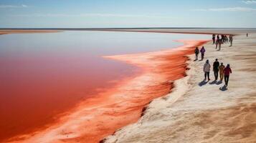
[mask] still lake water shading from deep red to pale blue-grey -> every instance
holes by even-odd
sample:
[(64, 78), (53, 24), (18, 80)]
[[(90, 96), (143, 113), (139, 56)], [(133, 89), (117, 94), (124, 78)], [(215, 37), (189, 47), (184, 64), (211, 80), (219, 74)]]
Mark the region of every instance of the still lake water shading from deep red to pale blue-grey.
[(102, 56), (159, 51), (195, 34), (64, 31), (0, 36), (0, 142), (54, 122), (81, 102), (140, 72)]

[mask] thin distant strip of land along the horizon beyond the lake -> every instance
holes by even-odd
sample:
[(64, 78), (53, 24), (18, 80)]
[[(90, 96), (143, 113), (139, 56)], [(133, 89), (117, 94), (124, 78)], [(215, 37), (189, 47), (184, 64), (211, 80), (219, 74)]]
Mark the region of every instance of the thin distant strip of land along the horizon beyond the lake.
[(174, 34), (246, 34), (256, 28), (0, 28), (0, 34), (48, 33), (60, 31), (130, 31)]

